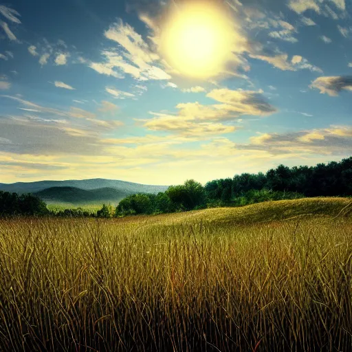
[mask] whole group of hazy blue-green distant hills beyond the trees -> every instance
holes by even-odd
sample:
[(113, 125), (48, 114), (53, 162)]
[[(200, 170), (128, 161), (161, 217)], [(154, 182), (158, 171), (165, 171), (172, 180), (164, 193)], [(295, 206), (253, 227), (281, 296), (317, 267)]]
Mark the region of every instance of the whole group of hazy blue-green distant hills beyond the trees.
[(6, 192), (34, 193), (47, 203), (118, 203), (134, 193), (164, 192), (168, 186), (135, 184), (115, 179), (82, 179), (67, 181), (35, 181), (0, 184)]

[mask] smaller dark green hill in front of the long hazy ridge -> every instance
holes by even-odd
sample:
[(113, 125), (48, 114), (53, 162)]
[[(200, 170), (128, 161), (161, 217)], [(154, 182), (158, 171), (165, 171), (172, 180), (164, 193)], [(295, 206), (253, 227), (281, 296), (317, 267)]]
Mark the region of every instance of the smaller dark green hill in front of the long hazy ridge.
[(35, 195), (46, 201), (47, 203), (72, 203), (72, 204), (88, 204), (88, 203), (118, 203), (121, 199), (128, 195), (128, 192), (122, 192), (115, 188), (98, 188), (96, 190), (83, 190), (76, 187), (50, 187)]

